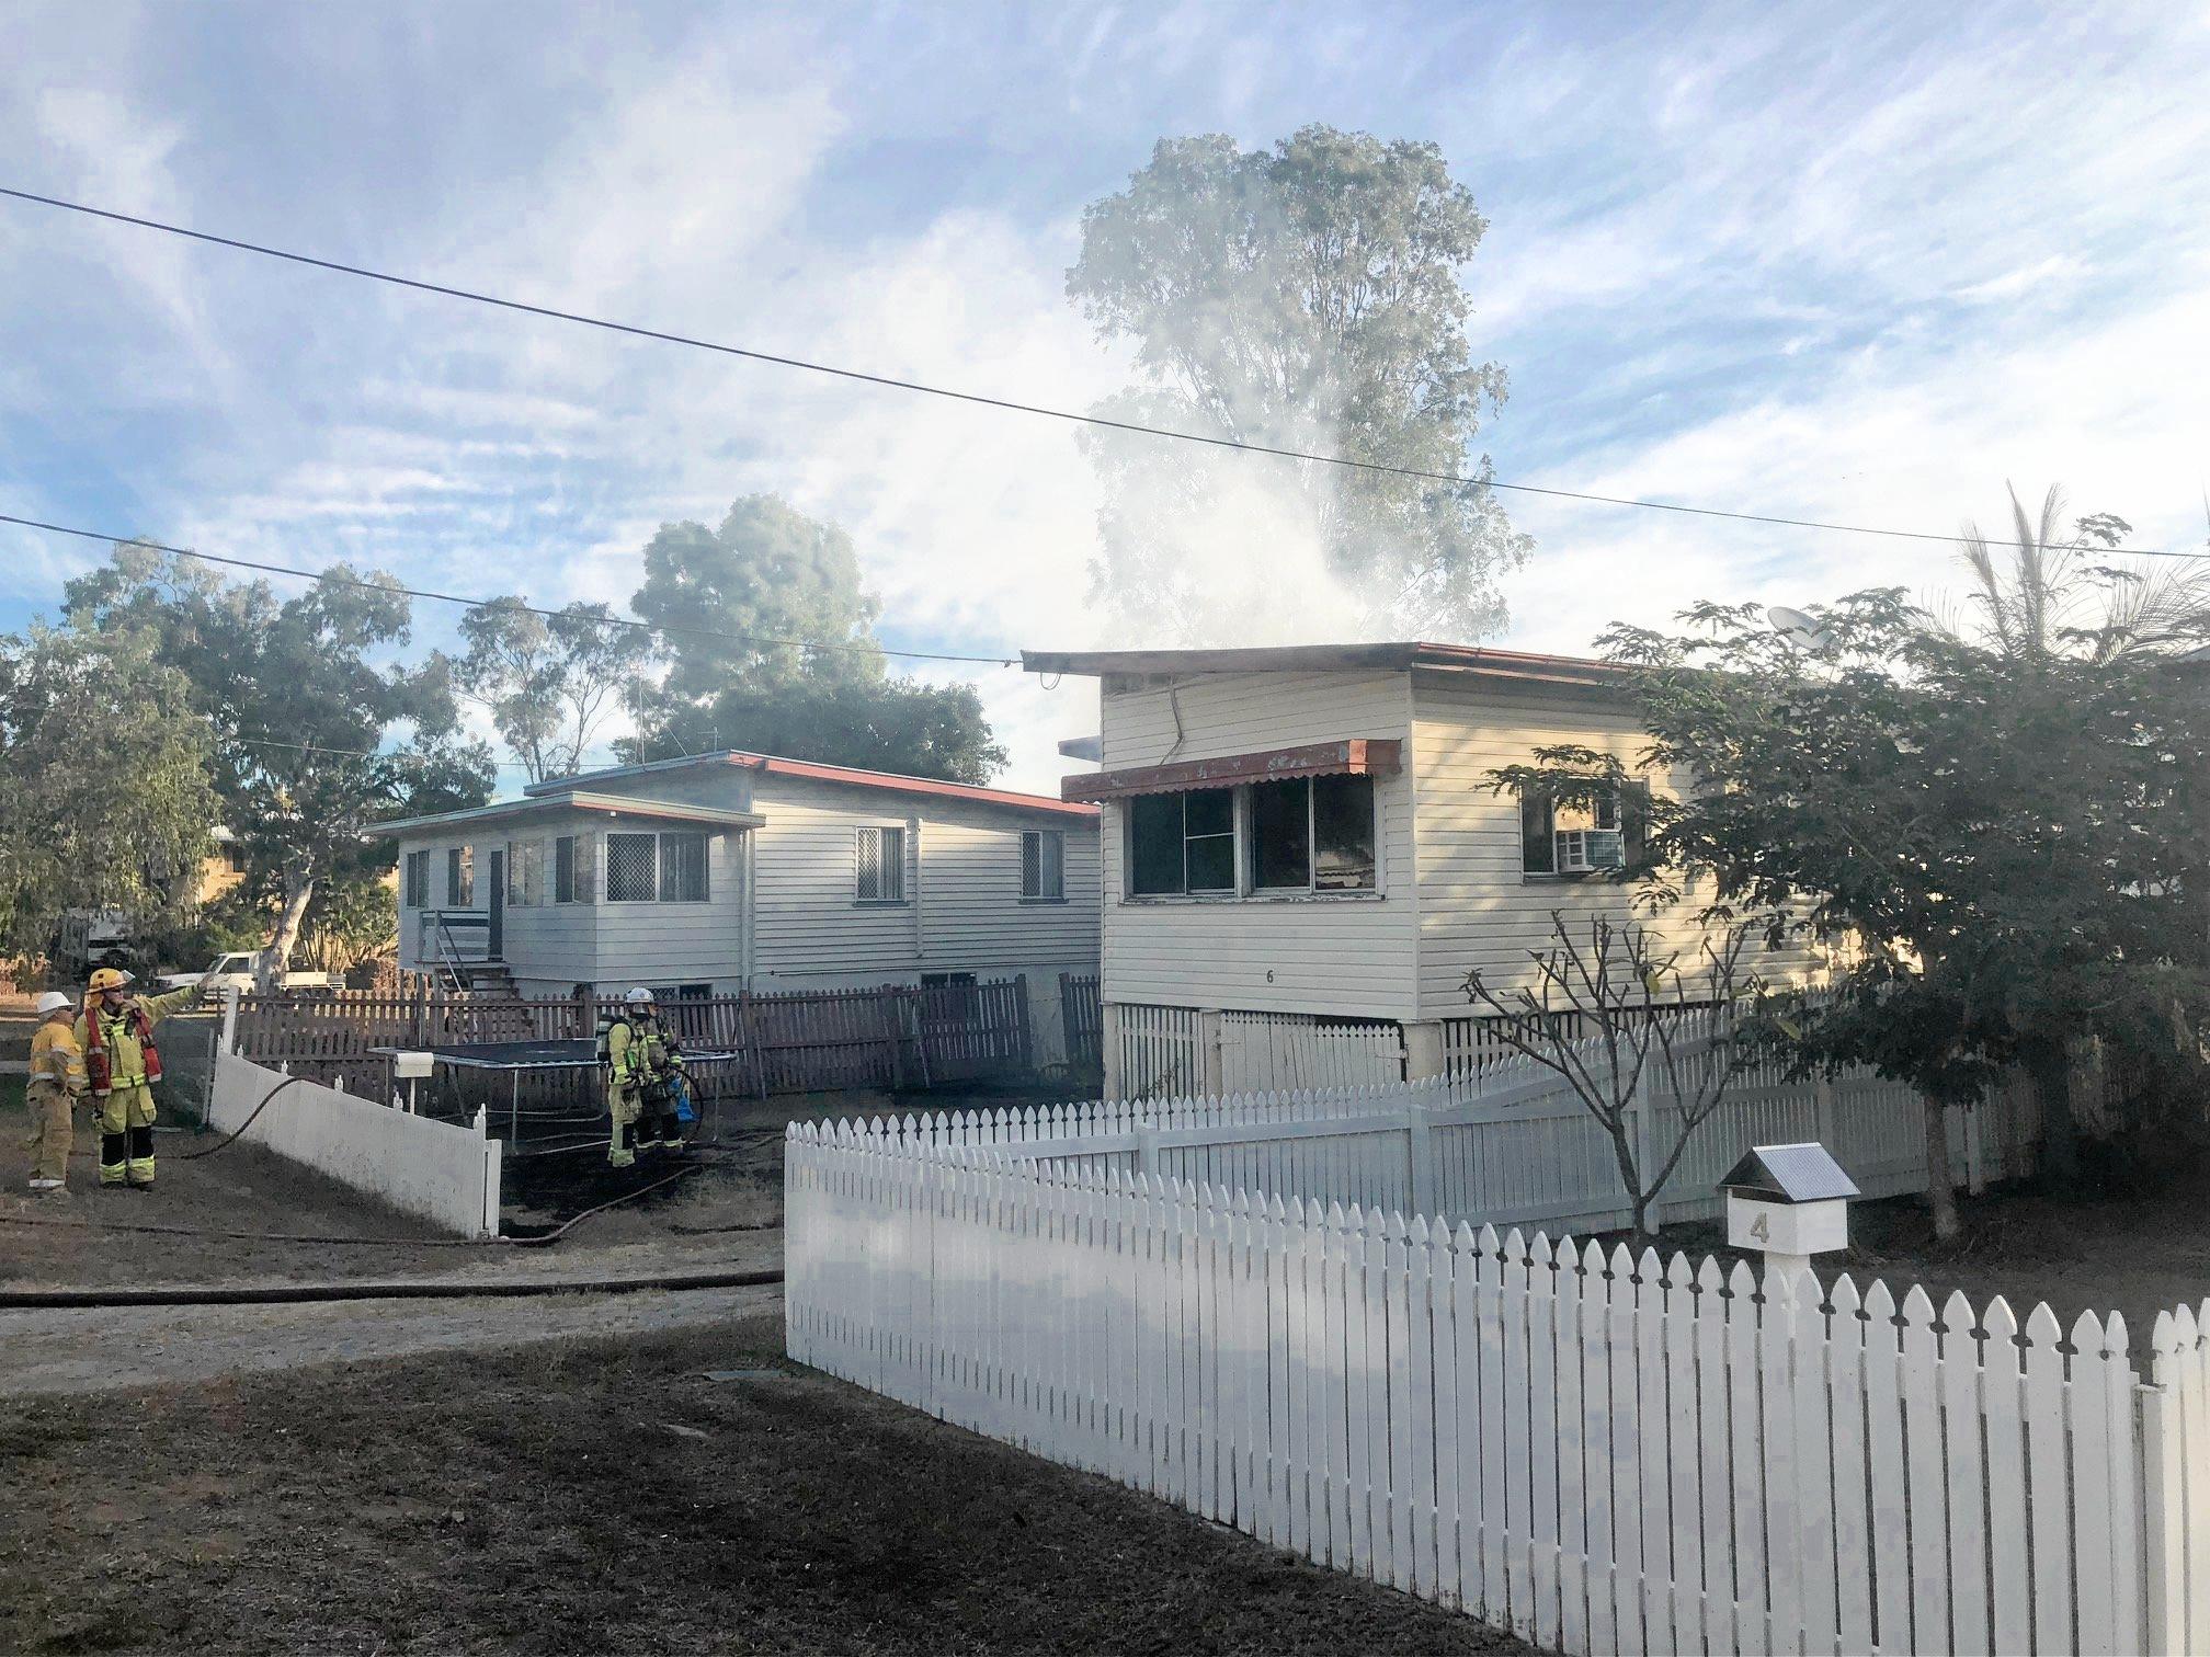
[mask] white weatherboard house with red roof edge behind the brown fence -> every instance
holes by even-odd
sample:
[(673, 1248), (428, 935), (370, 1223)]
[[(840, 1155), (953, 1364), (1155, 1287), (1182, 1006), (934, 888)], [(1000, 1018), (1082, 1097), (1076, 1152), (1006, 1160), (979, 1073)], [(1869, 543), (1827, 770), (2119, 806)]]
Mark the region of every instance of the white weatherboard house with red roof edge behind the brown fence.
[(1056, 974), (1096, 972), (1098, 811), (1032, 793), (707, 753), (382, 833), (400, 965), (524, 996), (1025, 974), (1056, 1030)]

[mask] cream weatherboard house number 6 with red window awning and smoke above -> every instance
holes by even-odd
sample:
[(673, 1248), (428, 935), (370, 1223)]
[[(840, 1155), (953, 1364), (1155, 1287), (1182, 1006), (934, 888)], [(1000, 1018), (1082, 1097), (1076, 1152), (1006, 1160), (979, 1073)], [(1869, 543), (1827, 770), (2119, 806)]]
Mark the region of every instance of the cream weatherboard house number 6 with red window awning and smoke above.
[[(1107, 1098), (1423, 1078), (1481, 1049), (1465, 974), (1532, 979), (1551, 910), (1627, 919), (1618, 809), (1494, 767), (1644, 736), (1616, 669), (1470, 645), (1028, 652), (1094, 674)], [(1662, 921), (1693, 939), (1693, 924)], [(1766, 974), (1799, 968), (1759, 959)]]

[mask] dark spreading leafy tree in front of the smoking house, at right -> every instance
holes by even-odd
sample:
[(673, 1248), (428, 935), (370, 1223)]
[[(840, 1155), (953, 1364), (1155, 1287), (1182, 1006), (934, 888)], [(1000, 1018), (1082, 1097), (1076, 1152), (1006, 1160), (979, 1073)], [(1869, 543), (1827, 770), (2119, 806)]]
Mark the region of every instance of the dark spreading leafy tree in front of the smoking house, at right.
[[(1658, 904), (1839, 952), (1806, 1007), (1806, 1067), (1872, 1065), (1927, 1098), (1929, 1202), (1956, 1233), (1945, 1107), (2020, 1063), (2203, 1005), (2210, 762), (2199, 672), (2153, 650), (2029, 658), (1929, 625), (1901, 590), (1814, 610), (1812, 641), (1755, 605), (1684, 632), (1613, 627), (1651, 742), (1695, 778), (1653, 795)], [(1593, 804), (1627, 767), (1582, 747), (1492, 773)]]

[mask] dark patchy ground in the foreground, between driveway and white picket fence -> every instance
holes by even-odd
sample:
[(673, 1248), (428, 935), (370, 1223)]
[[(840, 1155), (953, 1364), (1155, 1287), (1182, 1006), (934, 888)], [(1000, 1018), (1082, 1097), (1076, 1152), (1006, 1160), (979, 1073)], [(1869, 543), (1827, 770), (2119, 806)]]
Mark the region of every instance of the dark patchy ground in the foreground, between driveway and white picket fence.
[(40, 1653), (1525, 1650), (780, 1348), (751, 1317), (33, 1401), (0, 1602)]

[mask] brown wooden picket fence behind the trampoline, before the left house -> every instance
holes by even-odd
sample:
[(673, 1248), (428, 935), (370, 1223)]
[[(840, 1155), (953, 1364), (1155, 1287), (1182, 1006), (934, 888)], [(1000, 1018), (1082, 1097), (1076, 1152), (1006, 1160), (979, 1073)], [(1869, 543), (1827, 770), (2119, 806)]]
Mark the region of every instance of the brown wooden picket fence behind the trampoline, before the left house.
[[(314, 1001), (243, 996), (236, 1054), (287, 1065), (351, 1094), (382, 1096), (389, 1060), (376, 1047), (446, 1047), (502, 1041), (583, 1041), (619, 999), (519, 1001), (449, 992), (420, 981), (396, 996), (340, 992)], [(1017, 1078), (1034, 1069), (1034, 1034), (1021, 979), (882, 985), (791, 994), (667, 1001), (663, 1014), (694, 1052), (734, 1054), (692, 1065), (705, 1098), (767, 1098), (853, 1087), (944, 1087)], [(581, 1107), (599, 1087), (588, 1072), (508, 1076), (471, 1072), (462, 1089), (491, 1091), (524, 1109)]]

